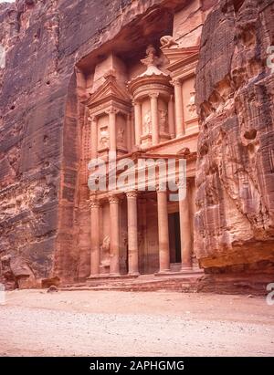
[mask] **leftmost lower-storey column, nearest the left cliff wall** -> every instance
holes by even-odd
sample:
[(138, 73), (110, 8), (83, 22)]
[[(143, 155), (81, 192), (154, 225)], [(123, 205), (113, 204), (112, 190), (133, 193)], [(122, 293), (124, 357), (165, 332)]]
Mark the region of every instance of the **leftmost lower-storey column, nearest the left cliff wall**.
[(100, 203), (90, 199), (90, 277), (100, 274)]

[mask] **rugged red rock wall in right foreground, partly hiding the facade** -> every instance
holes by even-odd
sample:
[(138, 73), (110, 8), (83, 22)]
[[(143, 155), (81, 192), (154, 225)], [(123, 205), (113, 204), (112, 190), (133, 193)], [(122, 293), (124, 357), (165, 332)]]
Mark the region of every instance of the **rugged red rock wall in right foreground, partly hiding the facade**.
[(221, 0), (205, 21), (195, 251), (209, 272), (273, 270), (273, 17), (273, 0)]

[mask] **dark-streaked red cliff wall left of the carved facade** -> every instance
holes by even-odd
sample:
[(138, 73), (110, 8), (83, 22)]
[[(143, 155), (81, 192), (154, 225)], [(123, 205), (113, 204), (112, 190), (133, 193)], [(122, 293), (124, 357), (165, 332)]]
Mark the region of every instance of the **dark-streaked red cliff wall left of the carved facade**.
[[(0, 258), (19, 258), (38, 281), (51, 276), (72, 281), (90, 272), (89, 248), (77, 243), (79, 224), (89, 236), (89, 214), (80, 172), (83, 88), (75, 66), (163, 3), (169, 2), (0, 5), (0, 44), (6, 49), (0, 69)], [(179, 3), (184, 4), (175, 0), (172, 6)], [(121, 37), (128, 43), (126, 34)], [(6, 267), (6, 258), (3, 262)], [(12, 274), (11, 279), (18, 276)]]

